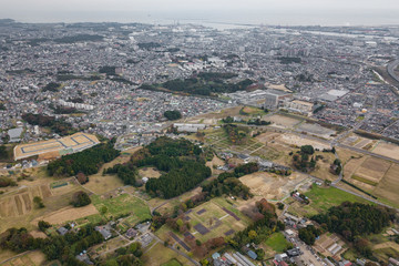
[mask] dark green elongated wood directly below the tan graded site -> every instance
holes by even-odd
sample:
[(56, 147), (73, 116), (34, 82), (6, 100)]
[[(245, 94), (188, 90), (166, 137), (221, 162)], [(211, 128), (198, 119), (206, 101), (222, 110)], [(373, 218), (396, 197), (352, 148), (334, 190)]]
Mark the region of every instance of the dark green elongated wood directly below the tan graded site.
[(82, 172), (85, 175), (96, 174), (100, 167), (120, 155), (111, 143), (102, 143), (79, 153), (64, 155), (48, 165), (51, 176), (73, 176)]

